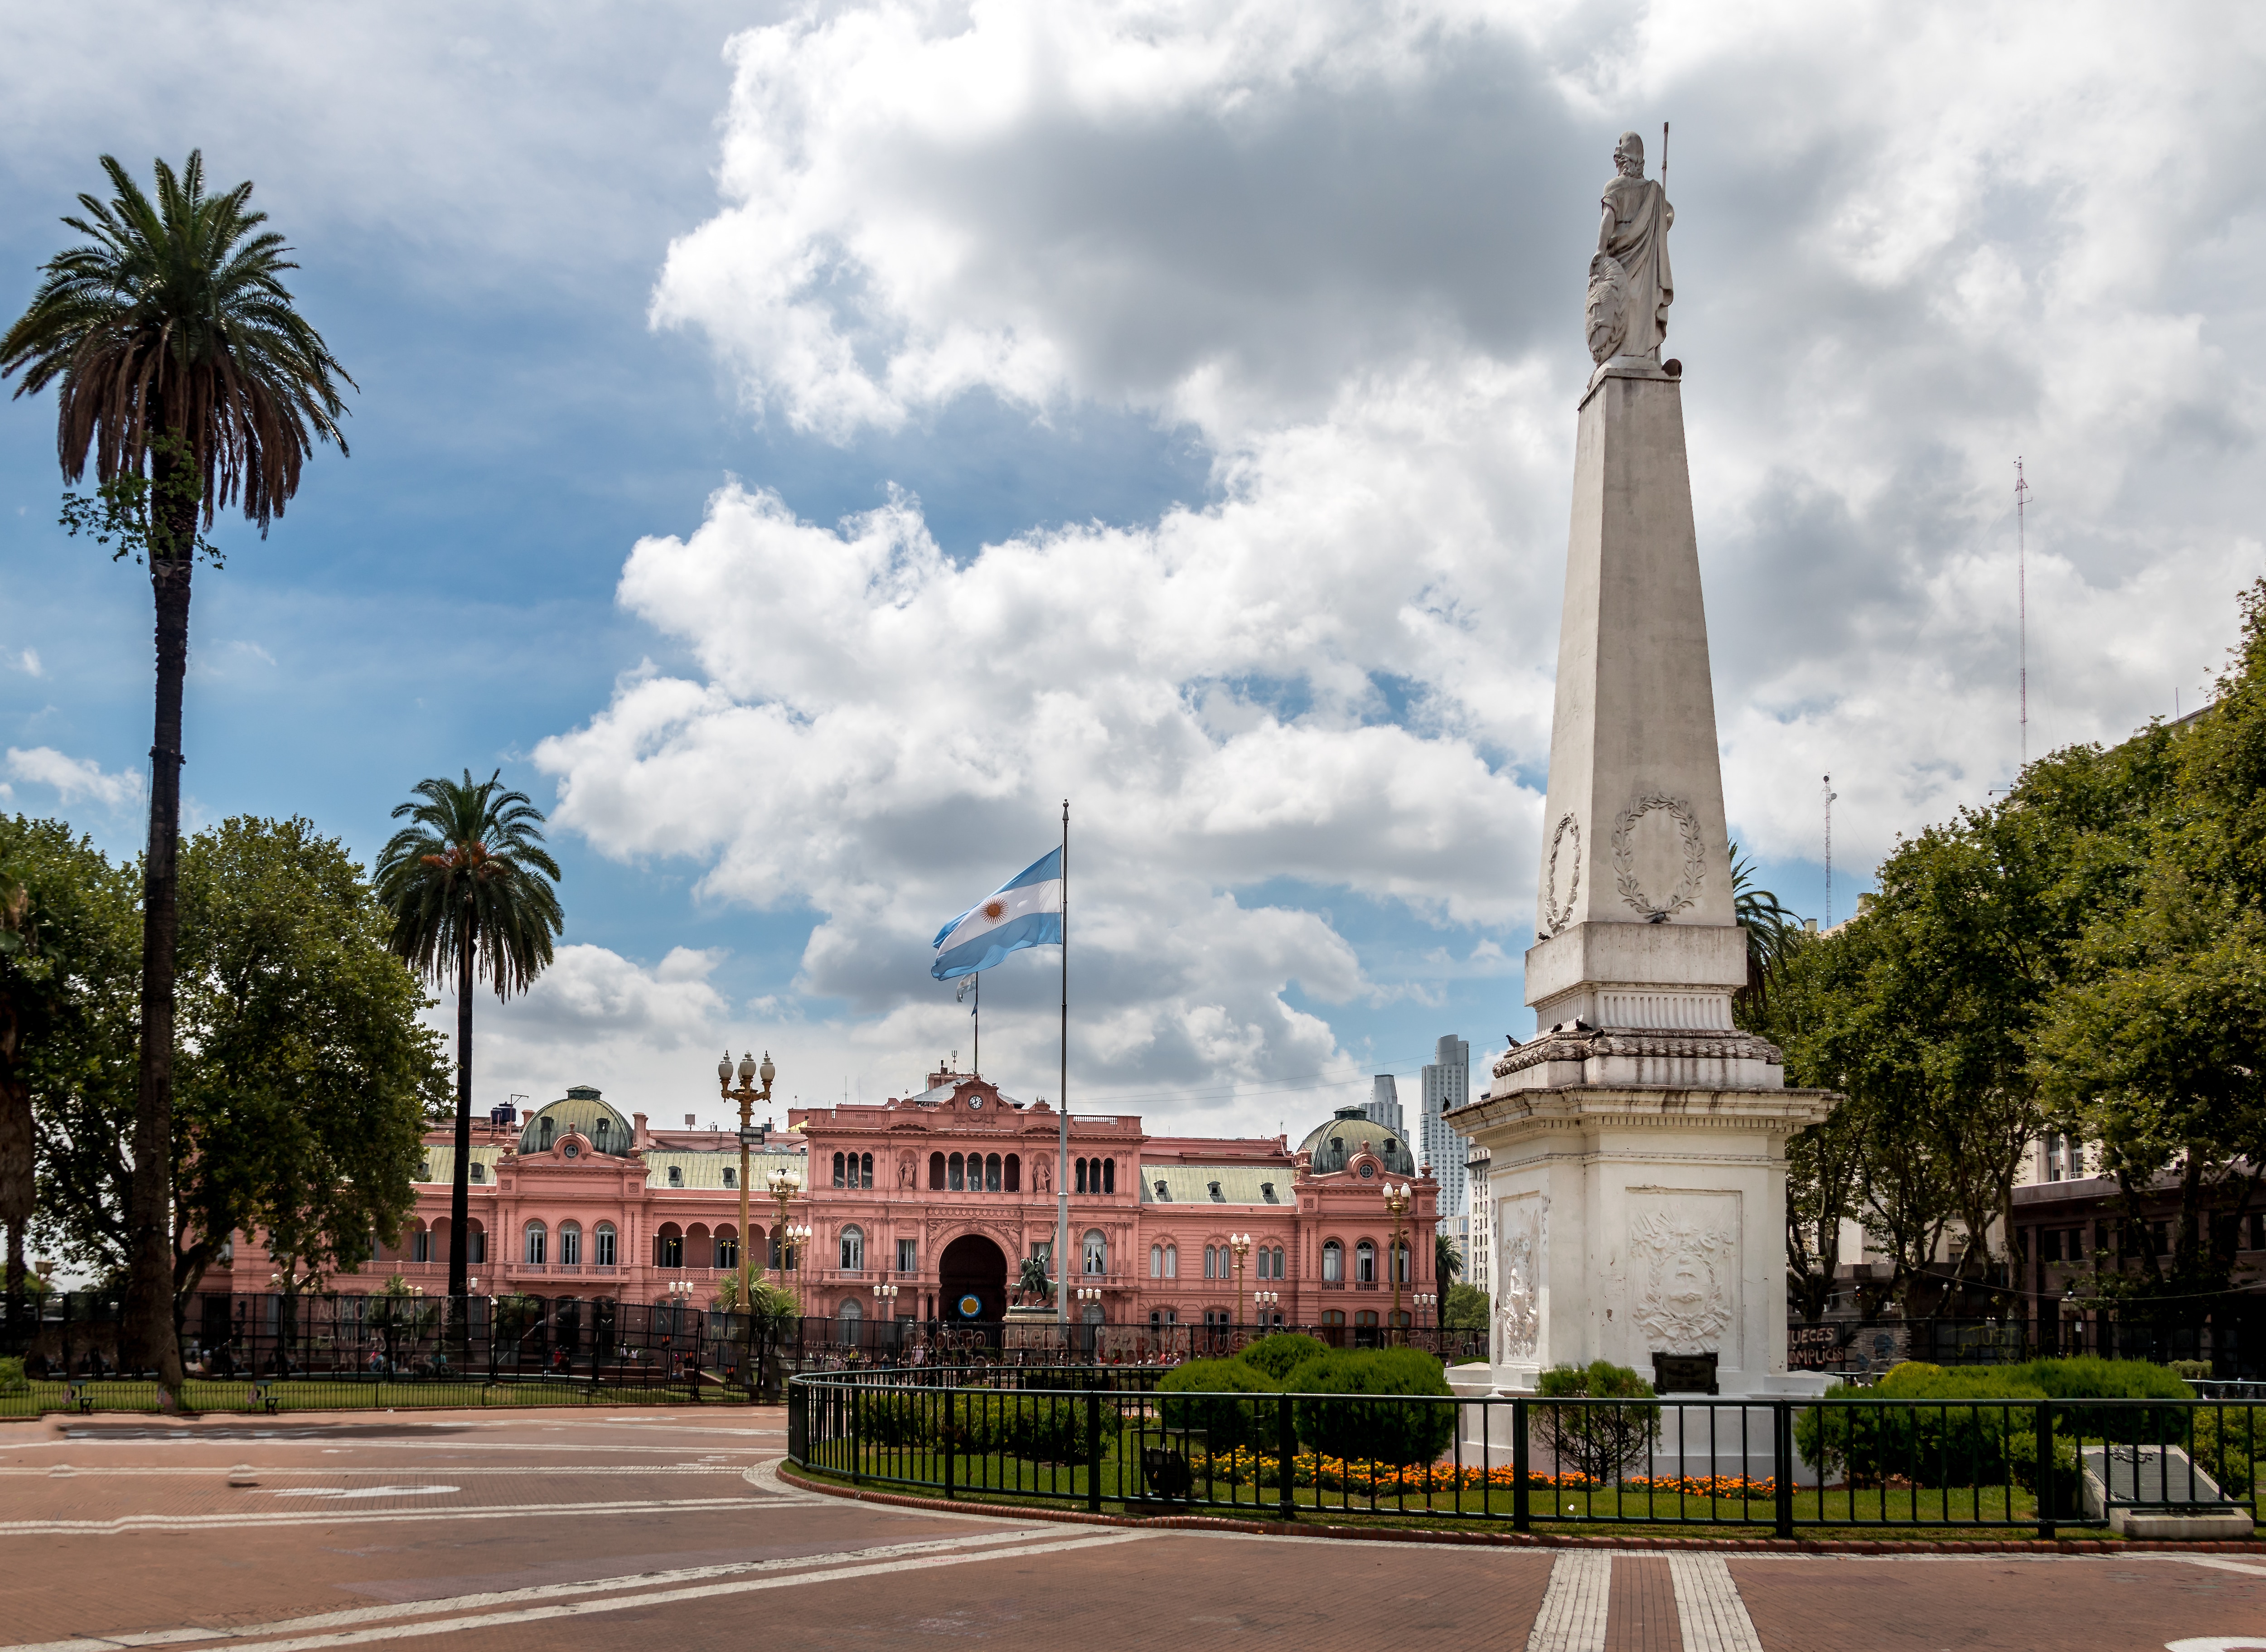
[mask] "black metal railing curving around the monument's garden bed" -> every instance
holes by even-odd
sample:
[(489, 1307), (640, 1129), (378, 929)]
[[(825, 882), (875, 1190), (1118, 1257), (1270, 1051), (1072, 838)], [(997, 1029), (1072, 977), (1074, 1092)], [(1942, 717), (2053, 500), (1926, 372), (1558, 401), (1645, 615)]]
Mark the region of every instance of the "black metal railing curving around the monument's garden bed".
[(2266, 1407), (2218, 1400), (1196, 1394), (1162, 1376), (798, 1376), (786, 1450), (854, 1484), (1094, 1512), (2053, 1536), (2255, 1521), (2266, 1448)]

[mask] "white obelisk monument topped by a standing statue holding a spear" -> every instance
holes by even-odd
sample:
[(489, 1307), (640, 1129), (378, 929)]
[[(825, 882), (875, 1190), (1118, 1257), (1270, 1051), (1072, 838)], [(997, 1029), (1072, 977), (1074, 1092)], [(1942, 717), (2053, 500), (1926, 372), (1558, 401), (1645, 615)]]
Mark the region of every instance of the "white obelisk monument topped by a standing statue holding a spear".
[(1675, 1391), (1813, 1391), (1786, 1371), (1786, 1138), (1838, 1097), (1788, 1090), (1779, 1051), (1731, 1024), (1747, 940), (1681, 365), (1661, 360), (1675, 211), (1636, 134), (1613, 161), (1527, 952), (1541, 1031), (1455, 1113), (1491, 1151), (1493, 1385), (1532, 1389), (1543, 1366), (1611, 1360)]

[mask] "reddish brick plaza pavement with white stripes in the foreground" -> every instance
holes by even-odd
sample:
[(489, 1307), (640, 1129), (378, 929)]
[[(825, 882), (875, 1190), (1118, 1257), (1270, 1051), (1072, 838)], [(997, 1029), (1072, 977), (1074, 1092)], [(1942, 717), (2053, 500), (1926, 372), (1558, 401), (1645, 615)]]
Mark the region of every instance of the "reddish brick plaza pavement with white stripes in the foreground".
[[(0, 1434), (0, 1652), (2266, 1647), (2266, 1559), (1351, 1543), (845, 1502), (784, 1416), (442, 1412)], [(256, 1484), (231, 1487), (249, 1466)]]

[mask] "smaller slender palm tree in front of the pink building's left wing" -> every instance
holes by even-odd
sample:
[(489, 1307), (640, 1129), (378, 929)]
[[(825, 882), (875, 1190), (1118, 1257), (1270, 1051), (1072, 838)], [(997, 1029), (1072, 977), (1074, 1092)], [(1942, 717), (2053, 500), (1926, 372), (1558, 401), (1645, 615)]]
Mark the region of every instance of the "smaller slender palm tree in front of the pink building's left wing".
[(526, 993), (551, 963), (562, 920), (557, 861), (544, 850), (542, 809), (503, 791), (503, 770), (474, 782), (419, 780), (378, 854), (378, 900), (394, 925), (387, 945), (435, 986), (455, 986), (455, 1174), (449, 1192), (449, 1296), (465, 1296), (465, 1228), (471, 1221), (471, 983), (485, 974), (499, 999)]

